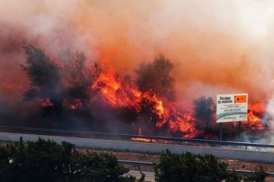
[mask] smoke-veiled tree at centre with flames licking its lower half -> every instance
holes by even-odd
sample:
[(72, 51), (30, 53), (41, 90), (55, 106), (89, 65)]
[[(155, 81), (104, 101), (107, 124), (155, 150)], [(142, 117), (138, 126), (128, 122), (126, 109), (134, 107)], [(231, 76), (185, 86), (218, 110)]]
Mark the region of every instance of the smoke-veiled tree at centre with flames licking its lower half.
[(141, 98), (138, 118), (141, 122), (143, 134), (159, 134), (157, 123), (162, 123), (164, 117), (159, 113), (159, 102), (152, 99), (156, 96), (162, 102), (170, 102), (175, 99), (174, 77), (171, 71), (174, 65), (164, 55), (159, 54), (153, 62), (143, 62), (135, 70), (137, 74), (136, 85), (143, 93)]

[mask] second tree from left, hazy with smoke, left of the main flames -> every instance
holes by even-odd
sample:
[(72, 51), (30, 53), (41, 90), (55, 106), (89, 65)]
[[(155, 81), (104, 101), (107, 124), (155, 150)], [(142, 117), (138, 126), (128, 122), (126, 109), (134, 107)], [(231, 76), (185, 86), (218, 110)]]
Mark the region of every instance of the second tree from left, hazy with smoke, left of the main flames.
[[(73, 110), (89, 110), (89, 99), (96, 90), (91, 85), (100, 76), (98, 64), (88, 64), (83, 52), (66, 50), (60, 55), (64, 64), (65, 104)], [(97, 85), (98, 86), (98, 85)], [(98, 88), (98, 87), (96, 87)]]

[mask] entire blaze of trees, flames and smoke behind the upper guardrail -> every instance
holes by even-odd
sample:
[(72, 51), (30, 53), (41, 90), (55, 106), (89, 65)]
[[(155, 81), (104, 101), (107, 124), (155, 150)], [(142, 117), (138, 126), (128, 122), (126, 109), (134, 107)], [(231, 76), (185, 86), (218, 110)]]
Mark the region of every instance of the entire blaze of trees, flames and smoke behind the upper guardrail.
[(273, 144), (273, 6), (0, 1), (0, 123), (218, 139), (216, 94), (246, 92), (242, 140)]

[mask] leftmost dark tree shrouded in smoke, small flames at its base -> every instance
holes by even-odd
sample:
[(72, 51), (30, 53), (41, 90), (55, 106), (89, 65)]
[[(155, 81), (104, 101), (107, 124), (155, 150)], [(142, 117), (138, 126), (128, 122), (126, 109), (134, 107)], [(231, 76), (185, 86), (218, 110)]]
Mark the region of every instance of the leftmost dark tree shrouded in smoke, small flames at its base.
[(25, 101), (39, 100), (45, 108), (45, 114), (49, 110), (60, 111), (64, 87), (58, 64), (49, 59), (43, 50), (33, 45), (25, 47), (25, 55), (25, 65), (21, 66), (31, 82), (30, 89), (23, 94)]

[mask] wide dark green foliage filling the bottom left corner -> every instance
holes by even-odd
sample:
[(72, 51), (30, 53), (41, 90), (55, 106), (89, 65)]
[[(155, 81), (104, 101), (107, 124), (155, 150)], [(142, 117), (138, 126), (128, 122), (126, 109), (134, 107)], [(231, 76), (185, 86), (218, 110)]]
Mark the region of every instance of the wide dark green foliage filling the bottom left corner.
[(70, 143), (27, 141), (0, 146), (1, 181), (134, 181), (107, 153), (79, 153)]

